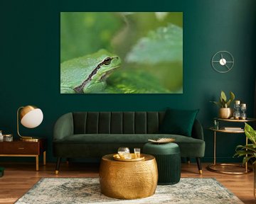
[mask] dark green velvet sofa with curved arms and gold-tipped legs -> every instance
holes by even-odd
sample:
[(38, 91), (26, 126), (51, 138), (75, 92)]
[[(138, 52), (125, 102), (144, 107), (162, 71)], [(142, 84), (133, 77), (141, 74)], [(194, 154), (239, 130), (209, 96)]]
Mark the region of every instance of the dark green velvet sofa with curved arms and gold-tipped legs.
[[(191, 137), (160, 134), (165, 111), (155, 112), (74, 112), (60, 116), (53, 130), (53, 156), (57, 157), (55, 174), (61, 158), (100, 158), (117, 152), (119, 147), (140, 147), (149, 139), (174, 138), (181, 157), (196, 157), (202, 173), (204, 157), (203, 128), (194, 120)], [(132, 150), (133, 151), (133, 150)]]

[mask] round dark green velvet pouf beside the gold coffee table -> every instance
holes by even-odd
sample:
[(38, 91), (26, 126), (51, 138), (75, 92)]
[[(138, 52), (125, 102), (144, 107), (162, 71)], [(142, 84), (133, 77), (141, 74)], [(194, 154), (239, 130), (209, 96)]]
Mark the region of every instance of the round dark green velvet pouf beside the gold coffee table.
[(181, 152), (176, 143), (158, 145), (147, 142), (143, 147), (144, 154), (156, 157), (159, 172), (158, 184), (168, 185), (178, 183), (181, 179)]

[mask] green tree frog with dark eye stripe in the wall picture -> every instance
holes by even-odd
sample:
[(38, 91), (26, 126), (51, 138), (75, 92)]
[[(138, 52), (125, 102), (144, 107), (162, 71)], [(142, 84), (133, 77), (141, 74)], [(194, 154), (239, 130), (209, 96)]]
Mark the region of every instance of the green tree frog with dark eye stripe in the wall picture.
[(107, 50), (65, 61), (60, 64), (60, 94), (100, 93), (120, 64), (121, 59)]

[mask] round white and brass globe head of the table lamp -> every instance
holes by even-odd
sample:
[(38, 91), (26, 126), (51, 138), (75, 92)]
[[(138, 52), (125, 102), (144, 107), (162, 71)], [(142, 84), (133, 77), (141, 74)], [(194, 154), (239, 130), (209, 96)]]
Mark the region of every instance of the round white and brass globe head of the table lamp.
[(43, 121), (43, 112), (35, 106), (25, 106), (21, 110), (21, 124), (26, 128), (36, 128)]

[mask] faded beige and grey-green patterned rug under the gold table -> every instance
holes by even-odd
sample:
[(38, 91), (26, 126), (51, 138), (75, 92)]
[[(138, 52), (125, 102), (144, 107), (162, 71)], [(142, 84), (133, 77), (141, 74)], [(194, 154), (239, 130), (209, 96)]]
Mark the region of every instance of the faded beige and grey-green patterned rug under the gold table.
[(16, 201), (16, 204), (25, 203), (240, 204), (242, 201), (215, 179), (182, 178), (175, 185), (157, 186), (154, 196), (135, 200), (119, 200), (100, 193), (98, 178), (44, 178)]

